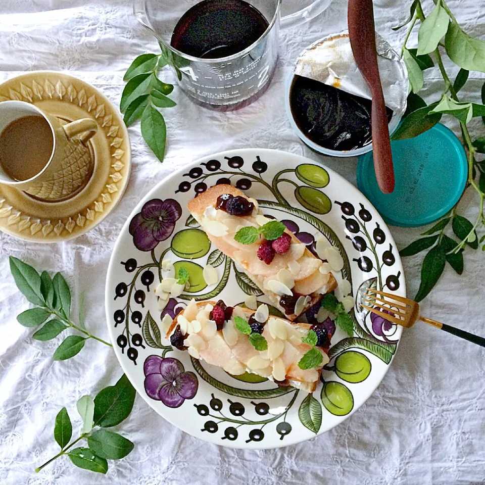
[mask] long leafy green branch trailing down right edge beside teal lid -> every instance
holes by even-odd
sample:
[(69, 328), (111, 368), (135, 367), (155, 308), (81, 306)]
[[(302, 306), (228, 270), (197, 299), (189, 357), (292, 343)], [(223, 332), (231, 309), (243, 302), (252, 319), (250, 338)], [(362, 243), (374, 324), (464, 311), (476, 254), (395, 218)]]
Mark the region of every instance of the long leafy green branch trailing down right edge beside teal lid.
[[(418, 46), (417, 49), (409, 49), (407, 42), (418, 21), (420, 22)], [(432, 128), (445, 114), (455, 117), (460, 124), (463, 144), (467, 152), (467, 187), (473, 187), (479, 201), (478, 214), (474, 223), (457, 214), (457, 203), (451, 213), (421, 234), (428, 237), (414, 241), (400, 252), (401, 256), (412, 256), (431, 248), (423, 260), (421, 284), (415, 298), (416, 301), (421, 301), (438, 282), (446, 263), (450, 264), (458, 274), (462, 274), (464, 267), (462, 253), (465, 247), (477, 249), (485, 240), (485, 236), (480, 240), (477, 236), (478, 227), (485, 225), (483, 215), (485, 161), (478, 161), (476, 157), (477, 153), (485, 153), (485, 136), (472, 141), (467, 127), (467, 123), (474, 117), (481, 117), (485, 123), (485, 105), (470, 101), (463, 102), (458, 97), (458, 92), (465, 85), (470, 70), (485, 72), (485, 41), (463, 31), (445, 0), (435, 0), (435, 6), (427, 16), (424, 15), (420, 0), (414, 0), (409, 18), (394, 30), (409, 23), (402, 47), (402, 57), (409, 73), (411, 92), (408, 96), (406, 117), (392, 139), (401, 140), (417, 136)], [(460, 67), (454, 82), (450, 80), (445, 70), (441, 52), (443, 49)], [(424, 85), (423, 71), (433, 67), (434, 63), (437, 64), (443, 77), (444, 90), (439, 101), (427, 105), (417, 93)], [(485, 84), (481, 89), (481, 102), (485, 103)], [(450, 223), (459, 241), (445, 234)], [(485, 245), (482, 246), (482, 251), (485, 251)]]

